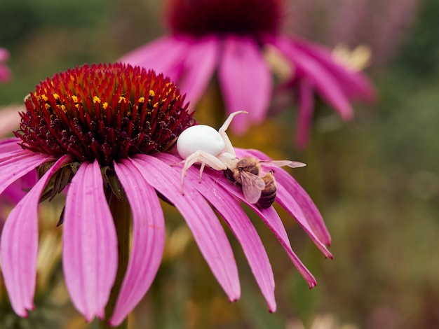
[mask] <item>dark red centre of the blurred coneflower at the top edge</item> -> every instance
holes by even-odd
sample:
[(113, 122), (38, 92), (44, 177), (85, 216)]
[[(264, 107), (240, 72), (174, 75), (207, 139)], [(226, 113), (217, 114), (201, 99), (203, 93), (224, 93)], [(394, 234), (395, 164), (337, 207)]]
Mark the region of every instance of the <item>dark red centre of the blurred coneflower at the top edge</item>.
[(169, 0), (168, 24), (176, 34), (250, 34), (278, 30), (283, 0)]

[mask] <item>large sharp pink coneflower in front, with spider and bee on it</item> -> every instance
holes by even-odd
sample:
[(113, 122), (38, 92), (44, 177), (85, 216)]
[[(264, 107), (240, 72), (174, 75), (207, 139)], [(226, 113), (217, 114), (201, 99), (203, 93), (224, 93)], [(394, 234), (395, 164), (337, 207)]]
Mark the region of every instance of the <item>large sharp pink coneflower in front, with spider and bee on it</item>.
[[(17, 138), (0, 142), (1, 191), (36, 168), (40, 176), (11, 211), (1, 237), (4, 280), (17, 314), (27, 316), (34, 308), (38, 204), (65, 187), (62, 264), (72, 302), (87, 321), (98, 316), (119, 325), (147, 293), (163, 255), (159, 197), (180, 211), (219, 285), (234, 301), (240, 296), (238, 271), (215, 207), (241, 242), (269, 310), (276, 309), (269, 259), (240, 207), (242, 191), (222, 172), (207, 168), (198, 183), (198, 168), (191, 167), (182, 195), (182, 169), (175, 166), (182, 159), (166, 151), (193, 120), (168, 78), (138, 66), (85, 65), (41, 82), (25, 106)], [(238, 153), (266, 157), (257, 151)], [(278, 203), (324, 255), (332, 257), (326, 248), (330, 236), (309, 196), (287, 172), (276, 169), (276, 179)], [(274, 232), (309, 286), (315, 286), (273, 207), (250, 207)], [(127, 246), (131, 221), (133, 241)], [(124, 248), (127, 253), (130, 249), (130, 256), (126, 270), (121, 270)], [(120, 289), (114, 295), (118, 279)]]

